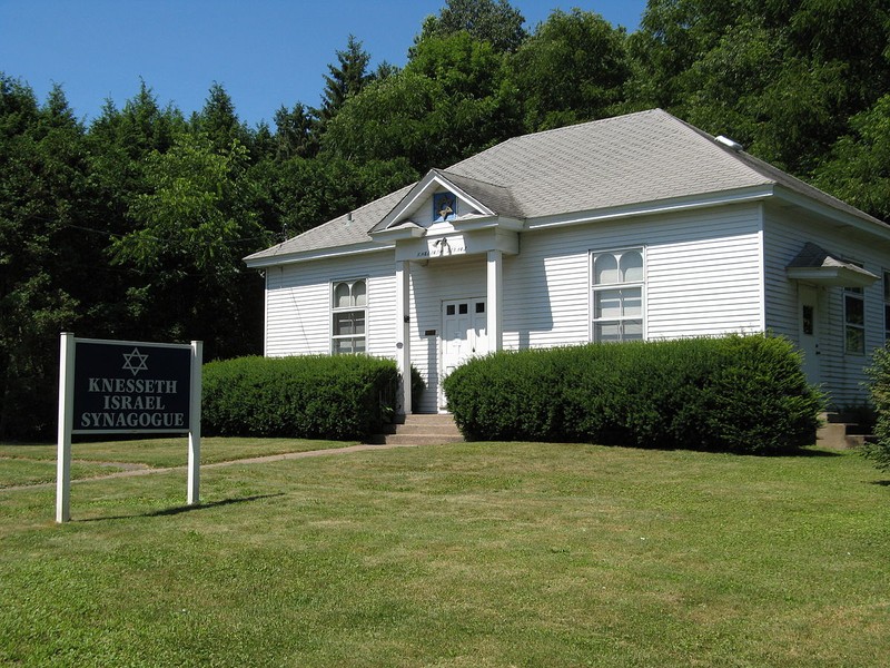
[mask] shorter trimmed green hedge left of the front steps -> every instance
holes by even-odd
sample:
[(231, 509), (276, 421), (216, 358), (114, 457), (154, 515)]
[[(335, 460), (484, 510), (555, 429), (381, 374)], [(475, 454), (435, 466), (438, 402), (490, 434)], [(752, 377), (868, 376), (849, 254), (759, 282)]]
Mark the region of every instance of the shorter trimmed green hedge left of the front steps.
[(363, 439), (379, 430), (395, 363), (364, 355), (239, 357), (204, 366), (207, 435)]

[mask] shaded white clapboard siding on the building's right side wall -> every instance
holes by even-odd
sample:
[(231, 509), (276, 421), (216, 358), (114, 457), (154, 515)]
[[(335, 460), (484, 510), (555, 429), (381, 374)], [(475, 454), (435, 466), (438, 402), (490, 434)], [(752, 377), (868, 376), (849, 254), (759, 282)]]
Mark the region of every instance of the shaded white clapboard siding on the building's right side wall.
[[(833, 255), (861, 263), (866, 269), (882, 276), (886, 253), (883, 246), (854, 233), (838, 234), (837, 227), (825, 225), (804, 214), (790, 215), (778, 207), (765, 208), (764, 247), (767, 325), (770, 331), (798, 343), (798, 283), (790, 281), (785, 268), (807, 242), (821, 246)], [(823, 390), (835, 407), (862, 404), (867, 381), (863, 369), (870, 364), (876, 347), (884, 344), (883, 285), (876, 282), (864, 289), (866, 353), (844, 351), (843, 289), (818, 287), (818, 337), (820, 373)]]

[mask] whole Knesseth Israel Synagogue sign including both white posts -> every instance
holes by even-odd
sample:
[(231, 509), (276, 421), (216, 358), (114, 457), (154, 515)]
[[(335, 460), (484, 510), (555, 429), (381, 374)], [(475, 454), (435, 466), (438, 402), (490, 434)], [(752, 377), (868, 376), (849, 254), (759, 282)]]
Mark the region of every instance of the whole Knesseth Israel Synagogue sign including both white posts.
[(202, 344), (62, 333), (56, 521), (71, 519), (71, 434), (188, 434), (188, 504), (200, 499)]

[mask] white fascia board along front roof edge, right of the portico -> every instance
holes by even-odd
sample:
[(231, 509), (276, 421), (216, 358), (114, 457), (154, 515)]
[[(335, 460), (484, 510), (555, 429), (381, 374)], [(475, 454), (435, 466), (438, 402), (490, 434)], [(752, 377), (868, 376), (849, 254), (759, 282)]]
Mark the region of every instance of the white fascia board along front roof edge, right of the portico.
[(554, 216), (543, 216), (530, 219), (525, 224), (525, 229), (544, 229), (547, 227), (563, 227), (568, 225), (583, 225), (585, 223), (597, 223), (602, 220), (617, 220), (634, 216), (649, 216), (653, 214), (670, 214), (676, 212), (708, 208), (712, 206), (723, 206), (729, 204), (742, 204), (746, 202), (760, 202), (774, 195), (774, 185), (764, 184), (762, 186), (750, 186), (735, 190), (722, 190), (720, 193), (705, 193), (704, 195), (689, 195), (686, 197), (674, 197), (670, 199), (656, 199), (653, 202), (634, 203), (624, 206), (613, 206), (602, 209), (586, 212), (574, 212), (571, 214), (557, 214)]

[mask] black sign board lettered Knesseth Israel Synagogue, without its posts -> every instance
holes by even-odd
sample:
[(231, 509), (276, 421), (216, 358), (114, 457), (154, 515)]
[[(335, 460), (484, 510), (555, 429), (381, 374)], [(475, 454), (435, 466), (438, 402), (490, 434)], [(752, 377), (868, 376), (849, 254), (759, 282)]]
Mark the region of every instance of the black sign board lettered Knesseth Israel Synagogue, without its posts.
[(191, 348), (76, 341), (71, 433), (187, 433)]

